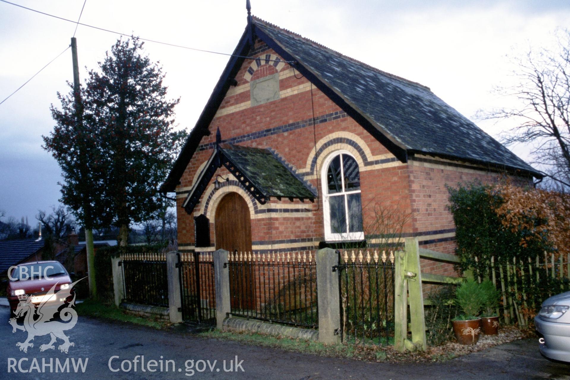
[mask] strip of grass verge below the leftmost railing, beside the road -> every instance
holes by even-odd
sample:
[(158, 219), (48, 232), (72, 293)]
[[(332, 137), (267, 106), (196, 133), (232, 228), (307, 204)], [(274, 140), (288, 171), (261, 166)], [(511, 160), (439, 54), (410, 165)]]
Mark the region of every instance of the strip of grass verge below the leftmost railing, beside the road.
[(139, 317), (125, 310), (117, 308), (114, 304), (103, 303), (98, 300), (84, 300), (80, 304), (75, 305), (75, 309), (79, 316), (103, 318), (107, 320), (131, 322), (136, 325), (149, 326), (155, 329), (165, 329), (172, 324), (157, 318)]

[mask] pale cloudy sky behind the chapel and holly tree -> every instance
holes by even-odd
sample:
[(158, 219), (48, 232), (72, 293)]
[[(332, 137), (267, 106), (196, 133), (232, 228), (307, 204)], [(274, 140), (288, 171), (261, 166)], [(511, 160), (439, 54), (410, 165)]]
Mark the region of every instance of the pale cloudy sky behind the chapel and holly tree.
[[(11, 0), (76, 21), (84, 0)], [(512, 83), (506, 55), (553, 46), (556, 27), (570, 27), (570, 2), (451, 0), (251, 0), (252, 13), (344, 55), (430, 87), (474, 120), (478, 109), (512, 105), (492, 93)], [(87, 0), (82, 23), (186, 47), (231, 53), (246, 26), (245, 0)], [(70, 44), (76, 24), (0, 2), (0, 101)], [(80, 78), (96, 69), (119, 35), (79, 25)], [(196, 124), (229, 56), (148, 42), (176, 108), (177, 128)], [(71, 50), (0, 104), (0, 210), (28, 217), (58, 205), (59, 166), (42, 149), (54, 127), (50, 104), (68, 92)], [(491, 136), (508, 122), (477, 121)], [(529, 160), (529, 146), (512, 150)], [(166, 177), (165, 173), (165, 177)]]

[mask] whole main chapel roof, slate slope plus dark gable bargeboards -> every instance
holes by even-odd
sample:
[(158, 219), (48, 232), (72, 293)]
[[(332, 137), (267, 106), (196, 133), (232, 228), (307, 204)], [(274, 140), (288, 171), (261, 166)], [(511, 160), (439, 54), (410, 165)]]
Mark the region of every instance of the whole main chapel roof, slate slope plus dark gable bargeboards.
[(310, 39), (253, 17), (230, 57), (196, 126), (190, 131), (162, 191), (174, 191), (250, 52), (250, 33), (329, 96), (402, 162), (423, 153), (432, 156), (522, 170), (542, 178), (514, 153), (439, 99), (428, 87), (378, 70)]

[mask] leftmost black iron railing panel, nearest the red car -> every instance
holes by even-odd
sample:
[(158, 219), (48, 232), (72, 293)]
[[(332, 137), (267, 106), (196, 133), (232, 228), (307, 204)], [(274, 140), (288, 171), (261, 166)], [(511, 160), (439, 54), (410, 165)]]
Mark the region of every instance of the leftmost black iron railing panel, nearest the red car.
[(168, 279), (164, 254), (121, 256), (125, 301), (168, 308)]

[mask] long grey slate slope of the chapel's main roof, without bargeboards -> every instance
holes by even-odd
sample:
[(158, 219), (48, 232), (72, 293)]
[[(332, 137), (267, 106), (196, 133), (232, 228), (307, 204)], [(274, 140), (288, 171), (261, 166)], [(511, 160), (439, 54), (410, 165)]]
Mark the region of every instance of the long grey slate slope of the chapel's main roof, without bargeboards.
[(408, 152), (537, 173), (424, 85), (348, 58), (259, 18), (254, 18), (254, 23)]

